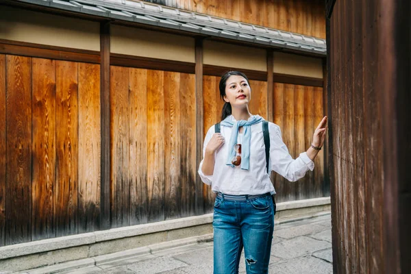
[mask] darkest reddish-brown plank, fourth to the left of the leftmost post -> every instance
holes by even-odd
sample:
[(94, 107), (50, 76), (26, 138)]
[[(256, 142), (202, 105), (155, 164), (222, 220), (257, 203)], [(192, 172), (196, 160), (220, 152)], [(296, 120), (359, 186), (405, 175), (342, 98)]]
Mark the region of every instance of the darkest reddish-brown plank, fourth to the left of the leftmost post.
[(32, 58), (6, 57), (5, 245), (32, 239)]

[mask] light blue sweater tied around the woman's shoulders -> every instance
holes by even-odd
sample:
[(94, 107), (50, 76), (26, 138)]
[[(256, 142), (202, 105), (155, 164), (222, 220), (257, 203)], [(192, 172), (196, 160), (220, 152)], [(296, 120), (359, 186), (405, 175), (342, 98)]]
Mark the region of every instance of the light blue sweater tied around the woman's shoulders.
[(262, 116), (255, 115), (252, 116), (249, 121), (240, 120), (240, 121), (232, 121), (232, 116), (228, 116), (226, 119), (221, 121), (221, 125), (225, 127), (232, 127), (232, 135), (229, 138), (229, 145), (228, 145), (228, 155), (227, 155), (227, 166), (234, 166), (231, 160), (236, 155), (236, 150), (234, 149), (234, 145), (237, 143), (237, 136), (238, 136), (238, 128), (244, 127), (244, 138), (242, 139), (241, 144), (241, 169), (245, 169), (248, 171), (250, 165), (250, 144), (251, 144), (251, 125), (262, 123), (264, 119)]

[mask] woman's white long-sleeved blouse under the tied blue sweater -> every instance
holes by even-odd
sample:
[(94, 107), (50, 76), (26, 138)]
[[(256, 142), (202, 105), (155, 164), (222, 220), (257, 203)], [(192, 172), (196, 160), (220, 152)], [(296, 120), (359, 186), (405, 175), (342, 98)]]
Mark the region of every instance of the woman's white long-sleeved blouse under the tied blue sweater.
[[(232, 121), (236, 121), (234, 116), (230, 116)], [(267, 192), (275, 194), (275, 189), (271, 183), (269, 173), (266, 171), (266, 156), (264, 147), (264, 136), (262, 134), (262, 123), (251, 125), (251, 147), (249, 170), (240, 169), (240, 166), (227, 166), (227, 149), (232, 127), (221, 125), (221, 134), (225, 138), (225, 143), (215, 154), (215, 164), (213, 175), (204, 175), (201, 171), (203, 160), (200, 162), (199, 175), (204, 184), (212, 186), (213, 192), (222, 192), (227, 195), (260, 195)], [(308, 170), (314, 169), (314, 162), (306, 152), (303, 152), (295, 160), (292, 159), (288, 149), (284, 144), (281, 131), (278, 125), (269, 123), (270, 132), (270, 160), (269, 170), (282, 175), (288, 181), (295, 182), (306, 175)], [(203, 158), (206, 147), (212, 135), (214, 125), (208, 129), (203, 145)], [(238, 134), (238, 143), (242, 134)]]

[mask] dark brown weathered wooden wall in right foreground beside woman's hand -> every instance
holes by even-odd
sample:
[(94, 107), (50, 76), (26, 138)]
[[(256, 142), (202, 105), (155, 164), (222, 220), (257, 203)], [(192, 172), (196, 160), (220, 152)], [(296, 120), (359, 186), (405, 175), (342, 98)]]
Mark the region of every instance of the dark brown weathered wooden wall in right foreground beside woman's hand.
[(411, 273), (410, 1), (327, 1), (334, 273)]

